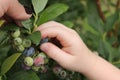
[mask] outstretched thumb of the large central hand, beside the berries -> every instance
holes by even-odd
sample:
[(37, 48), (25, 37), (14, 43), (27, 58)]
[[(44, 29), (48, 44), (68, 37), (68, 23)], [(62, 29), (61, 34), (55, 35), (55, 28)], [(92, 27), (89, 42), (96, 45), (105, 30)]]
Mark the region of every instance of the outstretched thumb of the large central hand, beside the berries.
[(44, 51), (49, 57), (57, 61), (61, 66), (67, 67), (69, 64), (67, 63), (70, 62), (71, 55), (64, 52), (57, 46), (55, 46), (52, 43), (44, 43), (40, 46), (41, 50)]

